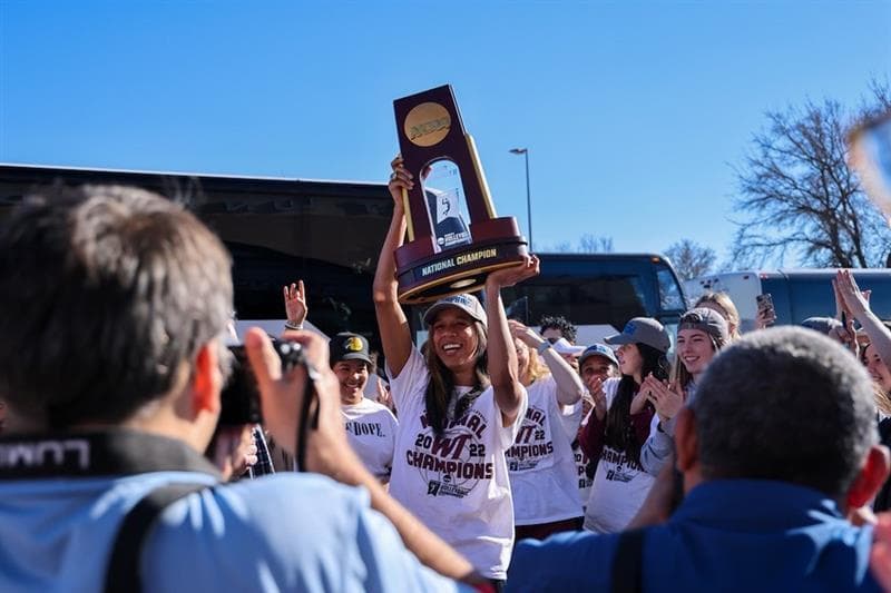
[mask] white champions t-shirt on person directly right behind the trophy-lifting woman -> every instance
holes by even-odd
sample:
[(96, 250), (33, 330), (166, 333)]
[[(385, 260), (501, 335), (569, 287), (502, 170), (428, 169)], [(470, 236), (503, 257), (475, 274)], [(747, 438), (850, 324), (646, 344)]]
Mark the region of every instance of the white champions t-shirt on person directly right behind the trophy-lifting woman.
[(537, 379), (526, 392), (529, 407), (513, 445), (505, 453), (513, 491), (513, 523), (537, 525), (579, 517), (582, 513), (571, 445), (581, 406), (560, 405), (557, 383), (550, 375)]

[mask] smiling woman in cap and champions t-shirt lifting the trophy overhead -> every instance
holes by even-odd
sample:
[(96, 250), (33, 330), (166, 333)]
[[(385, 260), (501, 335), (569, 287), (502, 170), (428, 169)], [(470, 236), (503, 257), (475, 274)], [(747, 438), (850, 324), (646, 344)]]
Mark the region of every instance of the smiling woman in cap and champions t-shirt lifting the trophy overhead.
[(394, 250), (404, 240), (402, 191), (413, 176), (391, 164), (393, 218), (374, 276), (391, 392), (400, 415), (390, 493), (496, 583), (507, 576), (513, 508), (505, 451), (527, 408), (500, 289), (538, 274), (525, 257), (486, 279), (486, 306), (469, 294), (441, 298), (424, 315), (421, 354), (398, 300)]

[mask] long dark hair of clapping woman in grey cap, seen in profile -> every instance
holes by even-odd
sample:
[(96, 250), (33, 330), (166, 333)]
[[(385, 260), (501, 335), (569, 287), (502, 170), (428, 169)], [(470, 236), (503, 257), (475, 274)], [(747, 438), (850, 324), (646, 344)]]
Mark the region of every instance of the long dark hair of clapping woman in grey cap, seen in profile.
[[(667, 378), (665, 353), (639, 342), (635, 343), (635, 346), (637, 346), (644, 360), (640, 376), (646, 377), (653, 373), (653, 376), (658, 379)], [(604, 439), (610, 447), (626, 452), (635, 463), (640, 463), (640, 447), (644, 445), (644, 443), (638, 442), (631, 424), (631, 399), (634, 399), (639, 387), (633, 376), (621, 376), (618, 387), (616, 387), (616, 395), (606, 414), (606, 435)], [(653, 404), (647, 402), (646, 406), (652, 408)]]

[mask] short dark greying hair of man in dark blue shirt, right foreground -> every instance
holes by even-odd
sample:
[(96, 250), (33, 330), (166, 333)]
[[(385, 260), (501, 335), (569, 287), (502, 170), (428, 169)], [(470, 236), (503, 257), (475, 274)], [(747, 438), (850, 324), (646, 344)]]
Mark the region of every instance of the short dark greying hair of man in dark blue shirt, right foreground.
[(691, 408), (706, 478), (776, 480), (840, 500), (878, 442), (866, 372), (801, 327), (754, 332), (723, 349)]

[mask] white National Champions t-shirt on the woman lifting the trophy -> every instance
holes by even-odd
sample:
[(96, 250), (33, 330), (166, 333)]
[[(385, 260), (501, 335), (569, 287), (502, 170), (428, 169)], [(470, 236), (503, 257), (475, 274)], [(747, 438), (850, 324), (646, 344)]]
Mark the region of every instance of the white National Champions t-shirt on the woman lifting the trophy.
[[(389, 372), (389, 369), (388, 369)], [(427, 423), (429, 373), (412, 348), (390, 389), (399, 411), (399, 432), (390, 494), (431, 531), (463, 554), (488, 579), (506, 579), (513, 545), (513, 505), (505, 451), (517, 437), (517, 421), (502, 426), (495, 392), (487, 388), (467, 413), (437, 438)], [(458, 388), (461, 395), (470, 389)]]

